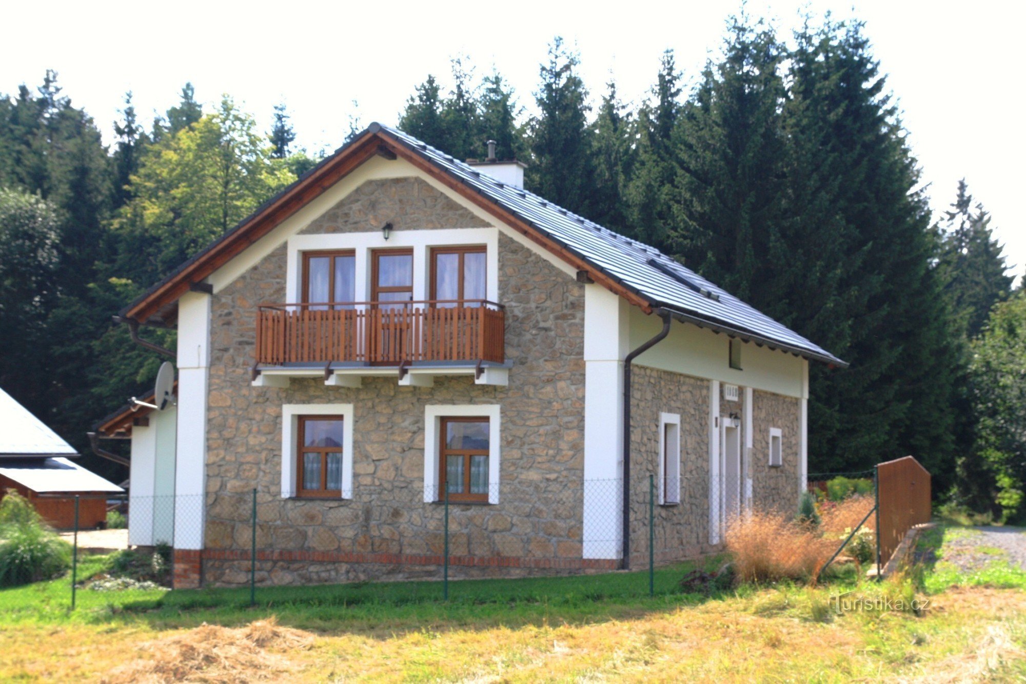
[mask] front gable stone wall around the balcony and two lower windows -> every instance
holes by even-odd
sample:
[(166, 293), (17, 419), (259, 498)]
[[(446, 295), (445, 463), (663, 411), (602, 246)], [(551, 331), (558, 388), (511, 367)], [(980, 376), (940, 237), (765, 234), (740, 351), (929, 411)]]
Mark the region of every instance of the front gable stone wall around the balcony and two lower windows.
[[(307, 232), (480, 226), (475, 216), (420, 180), (370, 181)], [(284, 301), (285, 248), (213, 296), (207, 436), (204, 580), (248, 580), (251, 490), (258, 490), (261, 583), (438, 576), (442, 505), (424, 499), (424, 415), (429, 404), (502, 406), (501, 502), (451, 506), (450, 553), (522, 559), (503, 574), (580, 566), (584, 458), (584, 289), (519, 242), (500, 235), (499, 298), (506, 305), (509, 386), (473, 376), (434, 387), (364, 378), (358, 389), (292, 379), (253, 387), (255, 305)], [(283, 404), (354, 406), (351, 500), (282, 499)], [(345, 562), (340, 559), (355, 559)], [(495, 562), (495, 561), (492, 561)], [(453, 576), (494, 568), (458, 566)]]

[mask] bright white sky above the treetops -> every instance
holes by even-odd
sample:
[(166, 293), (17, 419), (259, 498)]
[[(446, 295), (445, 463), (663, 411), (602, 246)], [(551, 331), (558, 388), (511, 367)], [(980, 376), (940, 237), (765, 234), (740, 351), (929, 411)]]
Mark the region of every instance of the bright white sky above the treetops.
[[(750, 0), (749, 12), (787, 31), (794, 0)], [(935, 211), (965, 177), (991, 212), (1015, 273), (1026, 266), (1026, 229), (1016, 214), (1026, 136), (1021, 120), (1023, 3), (810, 0), (816, 12), (867, 23), (889, 86), (898, 96), (911, 144), (932, 184)], [(854, 5), (854, 9), (853, 9)], [(334, 149), (358, 114), (395, 123), (413, 85), (434, 73), (448, 82), (448, 60), (467, 54), (478, 73), (492, 65), (530, 105), (539, 63), (554, 35), (576, 43), (581, 71), (598, 97), (611, 72), (635, 102), (654, 82), (664, 48), (695, 78), (717, 50), (737, 2), (658, 3), (281, 3), (21, 2), (3, 9), (0, 92), (35, 87), (46, 68), (65, 93), (110, 135), (122, 96), (134, 92), (141, 118), (176, 101), (186, 81), (211, 103), (231, 93), (269, 127), (285, 102), (310, 150)], [(16, 33), (15, 33), (16, 32)], [(352, 101), (358, 101), (358, 111)]]

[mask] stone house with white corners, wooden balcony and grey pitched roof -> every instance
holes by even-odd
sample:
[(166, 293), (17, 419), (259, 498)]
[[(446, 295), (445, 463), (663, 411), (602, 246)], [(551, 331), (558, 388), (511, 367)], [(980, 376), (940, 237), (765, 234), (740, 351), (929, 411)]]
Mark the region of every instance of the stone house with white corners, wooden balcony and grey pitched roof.
[(176, 407), (112, 423), (177, 585), (247, 581), (253, 534), (261, 582), (435, 575), (446, 491), (465, 576), (637, 562), (649, 476), (661, 561), (796, 506), (843, 362), (522, 186), (371, 124), (120, 313), (177, 330)]

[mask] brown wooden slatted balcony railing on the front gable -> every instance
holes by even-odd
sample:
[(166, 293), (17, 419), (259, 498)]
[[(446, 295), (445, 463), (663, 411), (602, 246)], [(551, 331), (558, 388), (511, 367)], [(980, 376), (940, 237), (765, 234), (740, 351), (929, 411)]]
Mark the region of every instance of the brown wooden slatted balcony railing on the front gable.
[(506, 314), (486, 300), (265, 304), (256, 363), (505, 360)]

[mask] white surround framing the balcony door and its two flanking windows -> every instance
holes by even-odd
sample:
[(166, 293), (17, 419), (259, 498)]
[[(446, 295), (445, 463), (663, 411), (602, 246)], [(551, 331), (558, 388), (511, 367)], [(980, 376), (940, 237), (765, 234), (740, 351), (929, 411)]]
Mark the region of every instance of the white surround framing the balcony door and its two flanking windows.
[(432, 248), (483, 244), (485, 246), (485, 299), (499, 301), (499, 229), (446, 228), (439, 230), (393, 230), (386, 240), (381, 230), (365, 233), (310, 233), (288, 238), (285, 303), (302, 298), (304, 252), (353, 250), (356, 253), (356, 301), (370, 298), (370, 252), (373, 250), (413, 250), (413, 300), (430, 299)]

